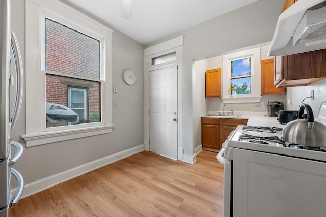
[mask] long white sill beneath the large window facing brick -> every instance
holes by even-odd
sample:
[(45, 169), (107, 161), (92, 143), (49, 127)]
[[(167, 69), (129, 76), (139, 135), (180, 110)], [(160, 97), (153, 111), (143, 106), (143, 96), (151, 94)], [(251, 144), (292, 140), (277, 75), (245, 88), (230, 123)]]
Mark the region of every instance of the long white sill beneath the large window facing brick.
[(88, 136), (96, 136), (100, 134), (111, 133), (114, 125), (88, 127), (82, 129), (42, 132), (39, 134), (22, 135), (26, 141), (26, 147), (44, 145), (53, 142), (61, 142), (71, 139), (83, 138)]

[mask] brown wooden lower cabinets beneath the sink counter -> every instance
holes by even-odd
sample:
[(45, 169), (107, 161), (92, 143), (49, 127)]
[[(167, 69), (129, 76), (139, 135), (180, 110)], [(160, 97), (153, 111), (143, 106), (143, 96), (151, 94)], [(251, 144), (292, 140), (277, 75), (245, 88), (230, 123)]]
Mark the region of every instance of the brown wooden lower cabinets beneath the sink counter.
[(219, 150), (223, 142), (238, 125), (246, 125), (247, 119), (202, 117), (202, 145), (206, 150)]

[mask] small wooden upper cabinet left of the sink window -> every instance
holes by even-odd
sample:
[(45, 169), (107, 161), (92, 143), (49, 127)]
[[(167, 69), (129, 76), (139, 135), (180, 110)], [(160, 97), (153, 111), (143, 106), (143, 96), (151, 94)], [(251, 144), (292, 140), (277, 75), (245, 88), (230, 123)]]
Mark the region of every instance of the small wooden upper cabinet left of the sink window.
[(206, 70), (206, 98), (221, 97), (221, 68)]

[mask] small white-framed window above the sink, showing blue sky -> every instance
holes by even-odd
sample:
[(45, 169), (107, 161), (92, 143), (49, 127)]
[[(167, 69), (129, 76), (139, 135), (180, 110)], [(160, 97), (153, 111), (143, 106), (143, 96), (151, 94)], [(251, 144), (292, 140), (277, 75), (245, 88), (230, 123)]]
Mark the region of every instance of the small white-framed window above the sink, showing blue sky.
[(223, 103), (260, 99), (260, 47), (223, 55)]

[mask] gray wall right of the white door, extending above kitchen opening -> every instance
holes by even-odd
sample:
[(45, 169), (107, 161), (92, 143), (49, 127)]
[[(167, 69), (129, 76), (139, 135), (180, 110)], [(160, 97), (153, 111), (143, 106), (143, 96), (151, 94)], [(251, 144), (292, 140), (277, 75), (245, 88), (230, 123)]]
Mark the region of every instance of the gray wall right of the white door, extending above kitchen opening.
[(200, 118), (193, 96), (196, 81), (193, 80), (193, 63), (236, 50), (271, 41), (284, 0), (259, 0), (248, 6), (216, 17), (183, 30), (153, 44), (184, 35), (183, 44), (183, 145), (184, 152), (192, 155), (198, 145)]

